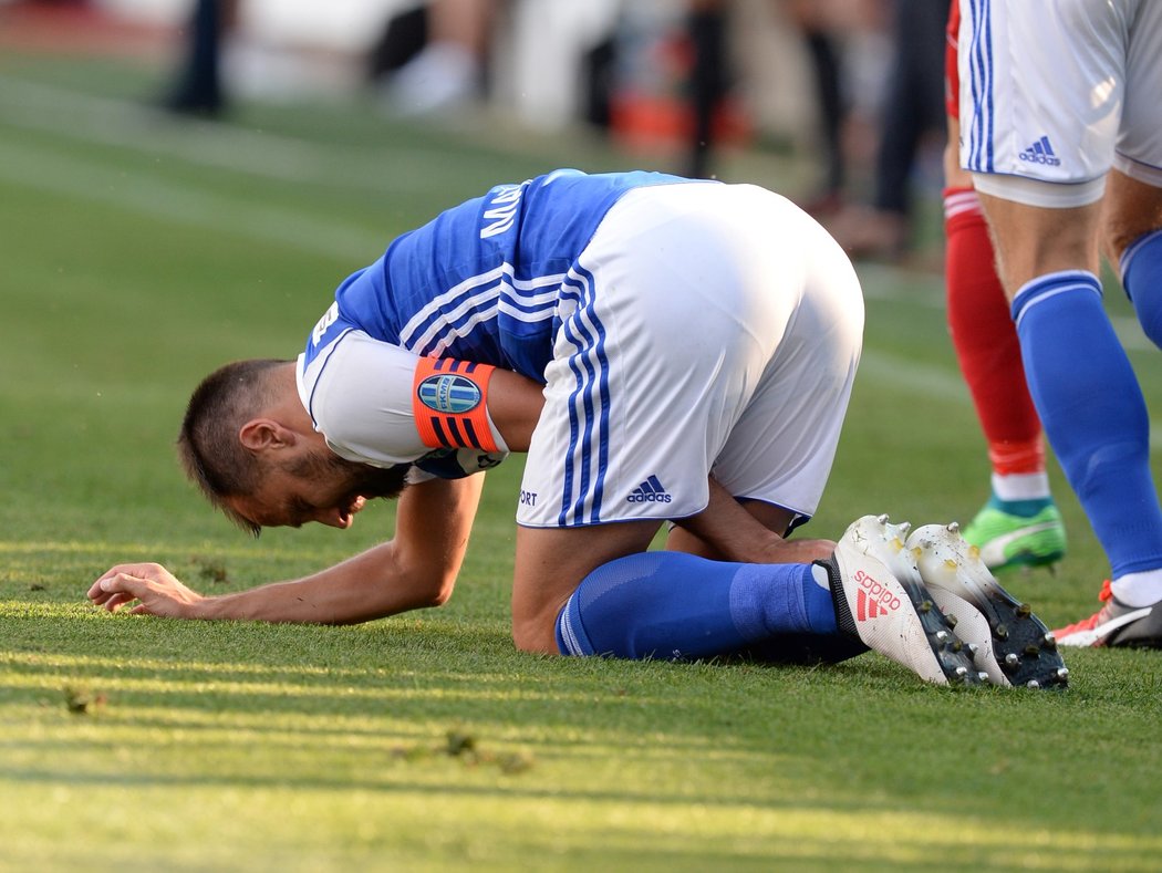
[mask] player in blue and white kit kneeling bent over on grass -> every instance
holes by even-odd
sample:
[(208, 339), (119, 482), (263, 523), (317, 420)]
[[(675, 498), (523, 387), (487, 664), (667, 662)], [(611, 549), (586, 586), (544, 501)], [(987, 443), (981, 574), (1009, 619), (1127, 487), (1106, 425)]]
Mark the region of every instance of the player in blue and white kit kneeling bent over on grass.
[[(120, 565), (89, 596), (309, 622), (440, 604), (479, 502), (472, 473), (526, 451), (523, 650), (701, 658), (806, 637), (830, 657), (870, 646), (934, 682), (1064, 681), (1052, 642), (1035, 658), (994, 645), (1010, 604), (987, 579), (945, 586), (981, 620), (966, 645), (913, 566), (889, 566), (960, 549), (953, 531), (916, 552), (870, 516), (838, 544), (787, 538), (822, 496), (862, 325), (839, 245), (762, 188), (576, 171), (497, 186), (344, 280), (297, 360), (208, 377), (182, 424), (188, 473), (244, 527), (346, 528), (367, 499), (399, 495), (394, 537), (235, 594)], [(666, 522), (668, 550), (647, 552)]]

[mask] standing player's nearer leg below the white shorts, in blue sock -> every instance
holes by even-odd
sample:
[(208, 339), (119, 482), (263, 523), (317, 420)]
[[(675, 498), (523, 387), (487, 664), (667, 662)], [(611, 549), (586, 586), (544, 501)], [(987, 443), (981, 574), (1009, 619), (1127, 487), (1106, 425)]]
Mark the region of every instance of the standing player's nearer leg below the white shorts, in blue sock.
[[(1149, 465), (1149, 421), (1102, 305), (1098, 205), (1046, 209), (982, 200), (1003, 241), (1006, 286), (1017, 289), (1012, 312), (1025, 374), (1049, 443), (1113, 579), (1154, 575), (1162, 567), (1162, 509)], [(1060, 642), (1078, 644), (1084, 637), (1076, 630), (1063, 629)]]

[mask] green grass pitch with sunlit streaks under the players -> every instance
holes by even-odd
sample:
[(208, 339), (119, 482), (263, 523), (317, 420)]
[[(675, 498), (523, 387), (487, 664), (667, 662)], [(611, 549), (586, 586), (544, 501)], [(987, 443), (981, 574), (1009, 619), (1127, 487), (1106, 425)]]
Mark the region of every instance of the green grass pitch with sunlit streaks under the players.
[[(0, 59), (0, 871), (1162, 867), (1162, 654), (1068, 653), (1064, 693), (939, 689), (873, 654), (519, 654), (518, 461), (488, 474), (443, 609), (315, 628), (88, 607), (120, 560), (214, 593), (387, 536), (386, 505), (351, 531), (258, 542), (213, 514), (172, 449), (193, 384), (295, 355), (338, 280), (445, 206), (557, 165), (643, 163), (358, 103), (186, 126), (144, 107), (152, 81)], [(723, 176), (798, 193), (794, 171), (739, 156)], [(866, 355), (809, 530), (964, 521), (988, 470), (941, 280), (860, 271)], [(1107, 296), (1162, 415), (1156, 352)], [(1056, 625), (1096, 608), (1106, 567), (1053, 477), (1070, 554), (1009, 582)]]

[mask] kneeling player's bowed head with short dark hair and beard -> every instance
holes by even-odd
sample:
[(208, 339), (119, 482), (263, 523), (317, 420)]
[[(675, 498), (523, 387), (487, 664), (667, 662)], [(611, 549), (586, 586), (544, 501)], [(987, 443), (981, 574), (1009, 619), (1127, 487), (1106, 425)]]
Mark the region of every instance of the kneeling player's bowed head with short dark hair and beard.
[(256, 416), (287, 401), (290, 364), (239, 360), (210, 373), (194, 389), (178, 436), (186, 474), (256, 536), (263, 527), (309, 521), (349, 527), (367, 499), (396, 496), (407, 473), (407, 466), (380, 470), (344, 460), (310, 439), (286, 452), (246, 445), (242, 435)]

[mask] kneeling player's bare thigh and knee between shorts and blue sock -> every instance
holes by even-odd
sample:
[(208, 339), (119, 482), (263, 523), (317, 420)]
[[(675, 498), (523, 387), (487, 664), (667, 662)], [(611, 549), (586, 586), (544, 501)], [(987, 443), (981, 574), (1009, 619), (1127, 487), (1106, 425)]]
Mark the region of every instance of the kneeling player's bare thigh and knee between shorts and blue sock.
[(644, 552), (660, 522), (584, 528), (526, 528), (516, 534), (512, 639), (528, 652), (555, 653), (557, 615), (576, 587), (603, 564)]

